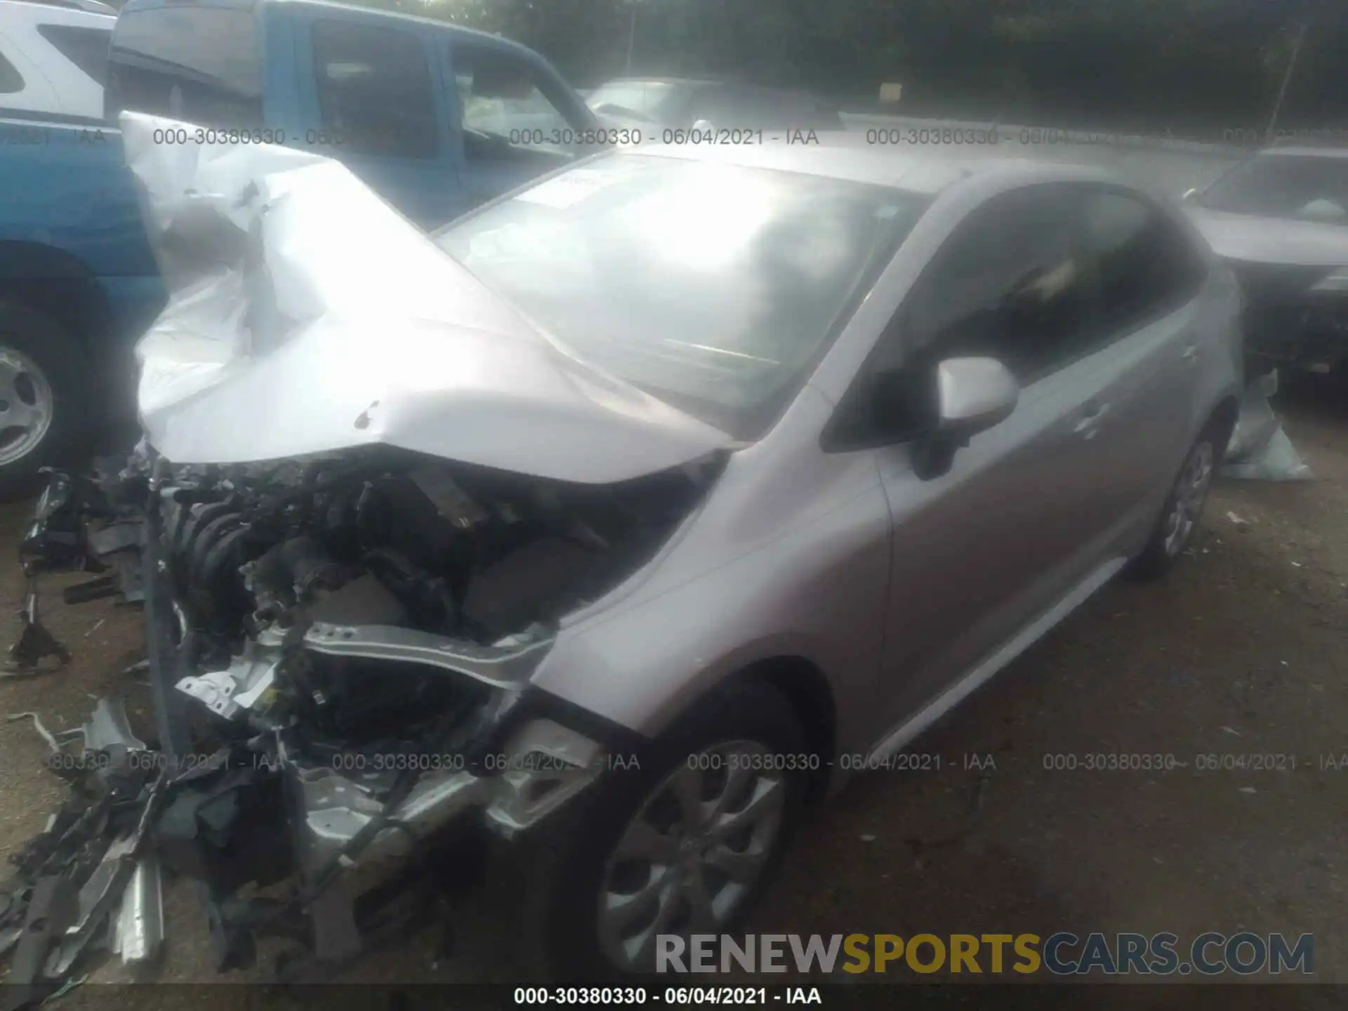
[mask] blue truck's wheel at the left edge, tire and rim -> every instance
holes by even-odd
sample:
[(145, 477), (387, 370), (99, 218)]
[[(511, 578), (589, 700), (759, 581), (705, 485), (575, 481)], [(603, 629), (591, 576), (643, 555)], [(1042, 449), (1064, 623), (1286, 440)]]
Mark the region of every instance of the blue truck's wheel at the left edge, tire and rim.
[(30, 495), (84, 431), (85, 356), (55, 319), (0, 299), (0, 501)]

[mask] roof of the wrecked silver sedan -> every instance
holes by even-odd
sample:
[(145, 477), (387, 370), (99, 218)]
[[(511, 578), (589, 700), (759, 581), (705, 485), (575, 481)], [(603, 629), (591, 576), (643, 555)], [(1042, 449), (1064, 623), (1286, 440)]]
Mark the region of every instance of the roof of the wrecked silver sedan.
[(816, 136), (818, 144), (799, 143), (798, 137), (790, 143), (786, 136), (772, 136), (764, 137), (760, 144), (651, 144), (624, 148), (623, 152), (824, 175), (933, 197), (961, 179), (989, 174), (1004, 177), (1007, 182), (1109, 182), (1128, 186), (1119, 175), (1097, 166), (940, 148), (910, 152), (867, 144), (865, 135), (860, 132)]

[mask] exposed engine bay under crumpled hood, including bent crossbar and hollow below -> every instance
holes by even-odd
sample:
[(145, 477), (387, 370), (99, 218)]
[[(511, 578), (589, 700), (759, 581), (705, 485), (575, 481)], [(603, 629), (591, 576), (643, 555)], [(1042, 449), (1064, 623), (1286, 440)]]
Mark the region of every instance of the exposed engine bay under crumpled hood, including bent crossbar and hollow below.
[[(259, 644), (307, 639), (268, 710), (299, 717), (314, 743), (403, 733), (461, 694), (445, 669), (514, 679), (510, 658), (647, 559), (701, 484), (673, 472), (562, 485), (388, 450), (181, 474), (160, 558), (183, 666), (256, 666)], [(355, 630), (371, 628), (381, 643), (363, 651), (372, 636)]]

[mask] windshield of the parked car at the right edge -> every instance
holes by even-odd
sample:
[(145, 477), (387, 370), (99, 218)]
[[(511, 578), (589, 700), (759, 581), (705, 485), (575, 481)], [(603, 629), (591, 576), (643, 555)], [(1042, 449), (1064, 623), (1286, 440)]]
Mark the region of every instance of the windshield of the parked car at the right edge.
[(1348, 158), (1256, 155), (1198, 201), (1212, 210), (1348, 224)]

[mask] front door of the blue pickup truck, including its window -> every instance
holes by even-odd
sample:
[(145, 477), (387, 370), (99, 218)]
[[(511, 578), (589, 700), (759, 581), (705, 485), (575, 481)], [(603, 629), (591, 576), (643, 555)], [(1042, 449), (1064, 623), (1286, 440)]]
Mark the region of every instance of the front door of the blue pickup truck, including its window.
[(460, 212), (593, 147), (593, 115), (541, 58), (504, 43), (454, 39), (441, 47), (441, 59)]

